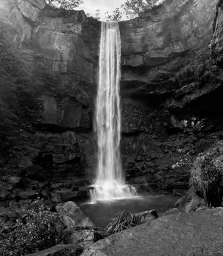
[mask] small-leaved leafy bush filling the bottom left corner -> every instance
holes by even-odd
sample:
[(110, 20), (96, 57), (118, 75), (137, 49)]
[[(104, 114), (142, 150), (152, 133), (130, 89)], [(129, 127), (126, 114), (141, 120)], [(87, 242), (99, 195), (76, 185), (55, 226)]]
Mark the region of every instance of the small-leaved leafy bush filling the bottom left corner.
[(57, 214), (36, 200), (15, 224), (0, 227), (0, 255), (23, 256), (63, 241), (56, 224)]

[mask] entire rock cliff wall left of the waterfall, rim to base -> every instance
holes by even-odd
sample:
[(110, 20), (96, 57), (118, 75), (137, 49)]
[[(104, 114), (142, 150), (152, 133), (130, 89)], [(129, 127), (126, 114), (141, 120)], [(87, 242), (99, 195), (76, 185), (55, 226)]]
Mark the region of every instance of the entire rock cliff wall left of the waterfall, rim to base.
[(1, 1), (0, 17), (1, 38), (21, 65), (19, 72), (25, 70), (10, 77), (15, 98), (7, 104), (14, 102), (13, 129), (20, 132), (6, 131), (7, 137), (2, 137), (1, 172), (31, 172), (38, 179), (38, 173), (40, 179), (85, 178), (84, 170), (94, 159), (94, 136), (88, 133), (97, 89), (100, 24), (82, 11), (53, 10), (44, 0)]

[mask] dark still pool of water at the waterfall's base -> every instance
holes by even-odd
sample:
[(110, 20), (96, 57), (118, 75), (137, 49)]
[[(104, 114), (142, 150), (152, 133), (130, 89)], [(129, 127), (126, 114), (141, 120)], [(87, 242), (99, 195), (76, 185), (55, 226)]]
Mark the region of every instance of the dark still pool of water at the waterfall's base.
[(114, 200), (109, 202), (78, 203), (80, 209), (97, 227), (105, 227), (118, 212), (131, 211), (133, 214), (156, 209), (159, 213), (174, 208), (179, 197), (174, 195), (147, 195), (134, 199)]

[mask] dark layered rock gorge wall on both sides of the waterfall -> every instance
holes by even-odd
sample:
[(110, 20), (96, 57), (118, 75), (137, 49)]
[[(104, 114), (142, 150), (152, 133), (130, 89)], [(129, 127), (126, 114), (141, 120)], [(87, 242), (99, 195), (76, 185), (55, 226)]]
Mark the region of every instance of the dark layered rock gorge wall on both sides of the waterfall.
[[(209, 118), (212, 131), (214, 118), (222, 125), (222, 15), (216, 4), (166, 0), (120, 23), (121, 148), (126, 176), (138, 189), (186, 189), (188, 168), (172, 166), (182, 150), (189, 157), (198, 150), (181, 120)], [(53, 10), (44, 0), (1, 0), (0, 26), (29, 78), (28, 85), (16, 80), (20, 112), (16, 132), (4, 135), (1, 173), (91, 182), (100, 23), (83, 11)], [(211, 39), (216, 59), (210, 59)], [(210, 129), (199, 140), (201, 151), (213, 140)]]

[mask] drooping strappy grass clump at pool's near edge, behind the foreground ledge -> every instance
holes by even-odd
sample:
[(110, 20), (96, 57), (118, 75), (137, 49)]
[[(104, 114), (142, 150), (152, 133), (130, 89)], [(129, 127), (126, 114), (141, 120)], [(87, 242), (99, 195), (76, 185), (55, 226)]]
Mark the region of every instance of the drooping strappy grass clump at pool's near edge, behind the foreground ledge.
[(132, 214), (130, 211), (119, 212), (107, 225), (105, 236), (110, 236), (114, 233), (121, 232), (121, 230), (140, 224), (142, 224), (142, 217)]

